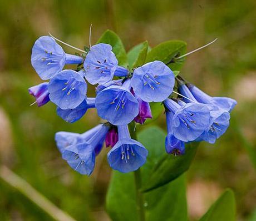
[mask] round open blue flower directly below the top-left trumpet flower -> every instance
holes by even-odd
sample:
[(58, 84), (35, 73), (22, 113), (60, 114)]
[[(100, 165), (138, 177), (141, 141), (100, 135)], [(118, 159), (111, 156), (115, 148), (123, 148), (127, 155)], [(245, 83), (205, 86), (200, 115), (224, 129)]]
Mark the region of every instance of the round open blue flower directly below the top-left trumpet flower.
[(49, 97), (61, 109), (73, 109), (86, 99), (87, 84), (78, 72), (64, 70), (50, 81)]

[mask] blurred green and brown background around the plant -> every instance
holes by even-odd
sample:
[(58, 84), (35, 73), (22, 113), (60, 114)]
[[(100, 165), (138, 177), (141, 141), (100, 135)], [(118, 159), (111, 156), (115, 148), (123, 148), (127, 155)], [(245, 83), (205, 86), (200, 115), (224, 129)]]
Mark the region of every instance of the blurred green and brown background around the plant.
[[(188, 43), (188, 51), (218, 41), (186, 59), (183, 77), (214, 96), (237, 99), (231, 126), (214, 145), (201, 143), (187, 173), (191, 220), (198, 219), (226, 187), (234, 190), (238, 220), (256, 220), (256, 2), (167, 0), (0, 1), (0, 160), (77, 220), (109, 220), (104, 212), (111, 169), (106, 148), (91, 177), (61, 159), (54, 134), (84, 132), (100, 122), (89, 110), (68, 124), (48, 103), (30, 107), (27, 88), (41, 82), (30, 57), (35, 40), (51, 32), (78, 48), (105, 29), (117, 32), (128, 51), (148, 40)], [(74, 53), (64, 47), (68, 53)], [(89, 92), (93, 95), (92, 88)], [(165, 118), (157, 122), (165, 129)], [(163, 147), (164, 151), (164, 147)], [(171, 199), (170, 199), (171, 202)], [(173, 202), (172, 202), (173, 203)], [(0, 220), (51, 220), (37, 205), (0, 179)]]

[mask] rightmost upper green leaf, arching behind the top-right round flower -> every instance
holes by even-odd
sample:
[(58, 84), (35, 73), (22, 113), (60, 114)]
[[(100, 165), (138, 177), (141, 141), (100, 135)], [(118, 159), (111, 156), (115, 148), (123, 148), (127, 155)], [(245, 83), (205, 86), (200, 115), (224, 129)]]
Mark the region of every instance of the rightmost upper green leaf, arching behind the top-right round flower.
[(162, 61), (171, 68), (172, 71), (179, 71), (182, 63), (170, 63), (173, 59), (186, 52), (186, 42), (171, 40), (163, 42), (151, 49), (147, 54), (146, 62)]

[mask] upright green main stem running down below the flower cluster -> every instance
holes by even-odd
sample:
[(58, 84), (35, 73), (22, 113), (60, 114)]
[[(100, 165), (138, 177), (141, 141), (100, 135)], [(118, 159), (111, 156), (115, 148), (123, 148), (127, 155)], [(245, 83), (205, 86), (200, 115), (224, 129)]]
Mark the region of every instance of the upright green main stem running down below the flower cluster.
[[(129, 124), (130, 134), (132, 139), (137, 139), (136, 131), (134, 130), (135, 123)], [(145, 221), (145, 210), (144, 210), (144, 196), (141, 193), (141, 171), (140, 168), (134, 171), (134, 182), (136, 191), (136, 203), (137, 203), (137, 213), (139, 215), (140, 221)]]

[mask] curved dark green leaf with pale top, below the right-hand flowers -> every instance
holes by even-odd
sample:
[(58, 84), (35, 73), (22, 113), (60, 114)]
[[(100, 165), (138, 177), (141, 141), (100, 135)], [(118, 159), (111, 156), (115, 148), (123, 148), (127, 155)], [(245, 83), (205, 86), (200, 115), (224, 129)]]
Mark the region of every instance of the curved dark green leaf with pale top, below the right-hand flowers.
[[(163, 130), (155, 127), (144, 130), (139, 134), (138, 138), (149, 149), (147, 162), (142, 167), (142, 171), (146, 170), (143, 179), (144, 183), (142, 184), (144, 192), (161, 187), (179, 177), (189, 169), (195, 157), (197, 143), (186, 144), (184, 155), (175, 157), (174, 155), (166, 154), (165, 135)], [(154, 147), (154, 144), (159, 145), (159, 148)]]

